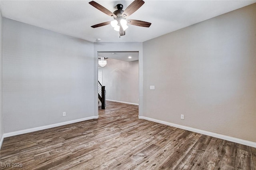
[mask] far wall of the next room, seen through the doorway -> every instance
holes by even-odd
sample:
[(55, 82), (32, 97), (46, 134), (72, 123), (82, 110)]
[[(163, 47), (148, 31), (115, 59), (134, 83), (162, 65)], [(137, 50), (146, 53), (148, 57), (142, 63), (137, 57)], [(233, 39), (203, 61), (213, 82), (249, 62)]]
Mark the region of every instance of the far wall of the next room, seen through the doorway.
[(103, 85), (106, 86), (106, 99), (136, 103), (139, 101), (139, 62), (126, 62), (107, 59), (102, 70)]

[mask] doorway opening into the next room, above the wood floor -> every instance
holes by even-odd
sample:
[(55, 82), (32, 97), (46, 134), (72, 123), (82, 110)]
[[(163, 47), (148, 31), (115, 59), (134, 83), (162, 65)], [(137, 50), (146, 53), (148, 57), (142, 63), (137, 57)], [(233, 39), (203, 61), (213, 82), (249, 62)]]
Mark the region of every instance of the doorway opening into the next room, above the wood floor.
[[(138, 58), (138, 51), (98, 52), (98, 59), (107, 62), (104, 67), (98, 64), (98, 82), (105, 86), (106, 101), (139, 105)], [(102, 109), (100, 99), (98, 109)]]

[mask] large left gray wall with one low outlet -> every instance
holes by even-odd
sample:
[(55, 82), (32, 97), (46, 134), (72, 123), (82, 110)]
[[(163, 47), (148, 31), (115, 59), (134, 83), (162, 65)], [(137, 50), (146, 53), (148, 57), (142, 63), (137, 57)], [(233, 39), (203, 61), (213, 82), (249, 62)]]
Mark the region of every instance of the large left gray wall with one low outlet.
[(4, 133), (94, 116), (92, 42), (6, 18), (3, 26)]

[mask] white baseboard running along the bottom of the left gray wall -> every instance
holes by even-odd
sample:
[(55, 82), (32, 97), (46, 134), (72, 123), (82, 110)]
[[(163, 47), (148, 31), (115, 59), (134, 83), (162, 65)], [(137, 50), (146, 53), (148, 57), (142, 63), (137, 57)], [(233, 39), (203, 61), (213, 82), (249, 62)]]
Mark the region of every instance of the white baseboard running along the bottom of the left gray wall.
[[(72, 121), (66, 121), (66, 122), (56, 123), (56, 124), (52, 124), (52, 125), (46, 125), (46, 126), (42, 126), (42, 127), (28, 128), (28, 129), (24, 129), (24, 130), (18, 130), (15, 132), (4, 133), (2, 140), (3, 140), (3, 138), (10, 137), (10, 136), (15, 136), (15, 135), (29, 133), (29, 132), (35, 132), (38, 130), (44, 130), (44, 129), (53, 128), (53, 127), (60, 127), (63, 125), (68, 125), (68, 124), (82, 122), (82, 121), (88, 121), (91, 119), (98, 119), (98, 116), (85, 117), (82, 119), (76, 119), (76, 120), (72, 120)], [(2, 140), (1, 140), (1, 142), (2, 142)]]

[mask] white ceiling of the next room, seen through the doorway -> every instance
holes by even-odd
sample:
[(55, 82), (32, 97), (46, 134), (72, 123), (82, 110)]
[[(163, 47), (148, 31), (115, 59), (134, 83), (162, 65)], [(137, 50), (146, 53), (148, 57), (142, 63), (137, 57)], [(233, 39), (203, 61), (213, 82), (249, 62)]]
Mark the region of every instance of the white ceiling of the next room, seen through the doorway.
[[(122, 61), (136, 61), (139, 59), (139, 53), (138, 52), (119, 52), (119, 51), (112, 51), (112, 52), (99, 52), (99, 57), (106, 57), (106, 58), (112, 58), (112, 59), (118, 59)], [(128, 57), (132, 58), (128, 58)]]

